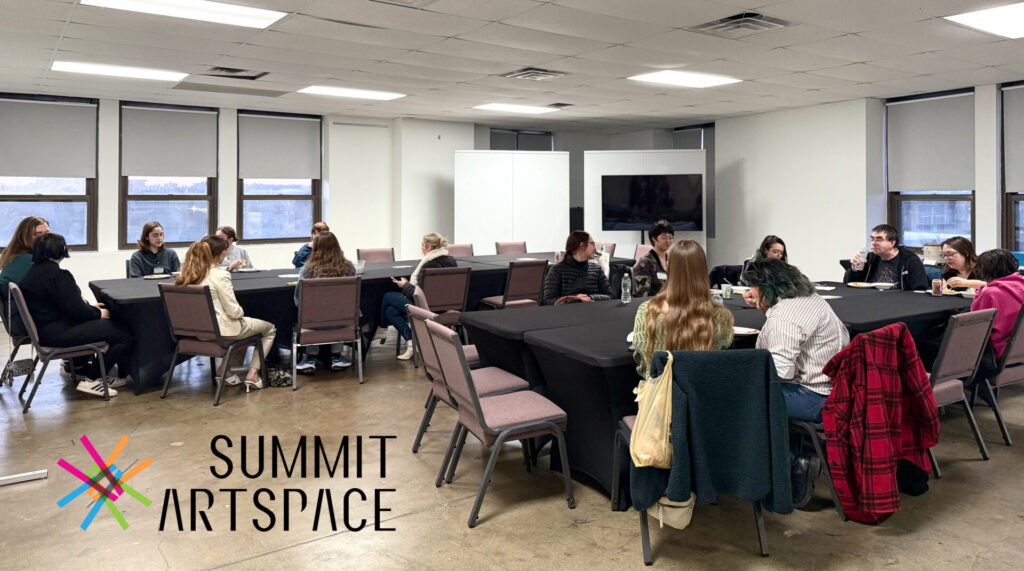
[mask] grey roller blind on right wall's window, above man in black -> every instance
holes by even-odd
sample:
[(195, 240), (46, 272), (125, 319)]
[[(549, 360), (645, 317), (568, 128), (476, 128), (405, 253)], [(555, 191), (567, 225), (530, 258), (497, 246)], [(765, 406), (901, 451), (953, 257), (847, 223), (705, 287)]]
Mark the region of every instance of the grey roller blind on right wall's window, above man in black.
[(974, 94), (888, 103), (889, 190), (974, 188)]

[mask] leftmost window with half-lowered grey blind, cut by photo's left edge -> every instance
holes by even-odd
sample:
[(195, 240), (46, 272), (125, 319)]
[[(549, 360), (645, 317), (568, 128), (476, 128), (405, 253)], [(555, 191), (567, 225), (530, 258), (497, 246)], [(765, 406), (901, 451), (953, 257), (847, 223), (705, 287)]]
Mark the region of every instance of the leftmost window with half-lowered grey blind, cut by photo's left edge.
[(0, 95), (0, 247), (41, 216), (72, 250), (96, 248), (94, 99)]

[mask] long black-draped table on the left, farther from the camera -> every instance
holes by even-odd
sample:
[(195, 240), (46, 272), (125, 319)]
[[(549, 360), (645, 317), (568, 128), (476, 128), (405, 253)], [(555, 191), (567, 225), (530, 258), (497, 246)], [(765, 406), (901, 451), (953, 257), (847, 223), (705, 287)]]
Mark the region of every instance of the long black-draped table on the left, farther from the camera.
[[(459, 267), (470, 268), (467, 310), (475, 310), (481, 299), (501, 295), (505, 290), (505, 279), (509, 264), (517, 260), (548, 260), (553, 263), (553, 252), (528, 254), (504, 254), (496, 256), (473, 256), (457, 258)], [(364, 351), (369, 350), (370, 341), (380, 315), (380, 302), (384, 294), (397, 292), (391, 277), (409, 277), (415, 271), (419, 260), (367, 263), (360, 290), (359, 309), (362, 316), (360, 328), (364, 334)], [(609, 281), (621, 279), (626, 268), (633, 265), (631, 258), (612, 258)], [(256, 271), (237, 271), (231, 274), (234, 295), (247, 316), (270, 321), (278, 328), (276, 343), (290, 346), (292, 327), (297, 319), (293, 301), (298, 270), (295, 268)], [(174, 341), (160, 300), (158, 283), (164, 279), (99, 279), (89, 282), (96, 300), (105, 304), (112, 316), (126, 323), (134, 336), (132, 349), (132, 377), (137, 380), (136, 392), (162, 379), (170, 366), (174, 354)], [(273, 363), (271, 352), (268, 361)]]

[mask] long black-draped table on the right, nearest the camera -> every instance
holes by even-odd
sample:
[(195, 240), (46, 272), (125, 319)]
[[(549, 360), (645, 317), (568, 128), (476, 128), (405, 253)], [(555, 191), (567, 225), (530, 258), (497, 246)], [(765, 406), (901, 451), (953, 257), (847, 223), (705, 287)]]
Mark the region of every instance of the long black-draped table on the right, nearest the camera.
[[(971, 300), (913, 292), (880, 292), (841, 283), (819, 283), (827, 303), (851, 337), (890, 323), (905, 322), (922, 333), (941, 327), (949, 315), (967, 310)], [(526, 379), (531, 388), (568, 414), (565, 432), (573, 479), (611, 491), (612, 452), (618, 421), (636, 414), (633, 389), (639, 378), (626, 337), (637, 307), (618, 301), (475, 312), (462, 317), (481, 358)], [(735, 324), (760, 330), (764, 315), (739, 296), (724, 301)], [(754, 347), (756, 335), (736, 336), (734, 348)], [(552, 468), (564, 459), (552, 455)], [(620, 506), (628, 507), (629, 477), (620, 478)]]

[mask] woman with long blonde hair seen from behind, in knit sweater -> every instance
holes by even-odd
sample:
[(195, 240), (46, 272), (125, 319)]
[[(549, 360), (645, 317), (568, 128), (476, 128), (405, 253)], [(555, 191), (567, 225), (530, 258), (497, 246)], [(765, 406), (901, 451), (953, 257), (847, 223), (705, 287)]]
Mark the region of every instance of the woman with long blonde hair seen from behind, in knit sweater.
[(633, 358), (642, 379), (654, 351), (717, 351), (732, 344), (732, 313), (711, 301), (703, 249), (681, 239), (668, 254), (665, 288), (640, 304), (633, 322)]

